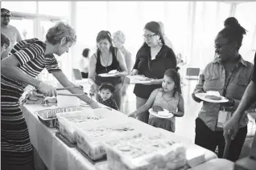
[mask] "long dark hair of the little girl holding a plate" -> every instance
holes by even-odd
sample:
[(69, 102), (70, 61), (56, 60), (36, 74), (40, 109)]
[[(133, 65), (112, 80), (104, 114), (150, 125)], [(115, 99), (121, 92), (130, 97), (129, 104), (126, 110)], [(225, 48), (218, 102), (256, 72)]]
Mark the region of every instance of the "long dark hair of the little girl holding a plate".
[(176, 67), (175, 69), (168, 69), (167, 71), (164, 72), (164, 75), (173, 79), (175, 83), (173, 97), (175, 97), (177, 92), (181, 94), (180, 73), (178, 72), (179, 70), (180, 70), (180, 67)]

